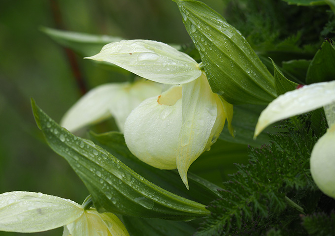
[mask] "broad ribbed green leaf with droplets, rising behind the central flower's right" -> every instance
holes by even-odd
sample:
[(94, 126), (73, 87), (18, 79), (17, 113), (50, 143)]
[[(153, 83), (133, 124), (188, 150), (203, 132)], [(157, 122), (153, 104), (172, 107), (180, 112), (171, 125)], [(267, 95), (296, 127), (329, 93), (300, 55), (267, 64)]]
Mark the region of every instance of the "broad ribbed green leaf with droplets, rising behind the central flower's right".
[(241, 33), (200, 1), (175, 0), (213, 92), (231, 104), (267, 104), (274, 80)]

